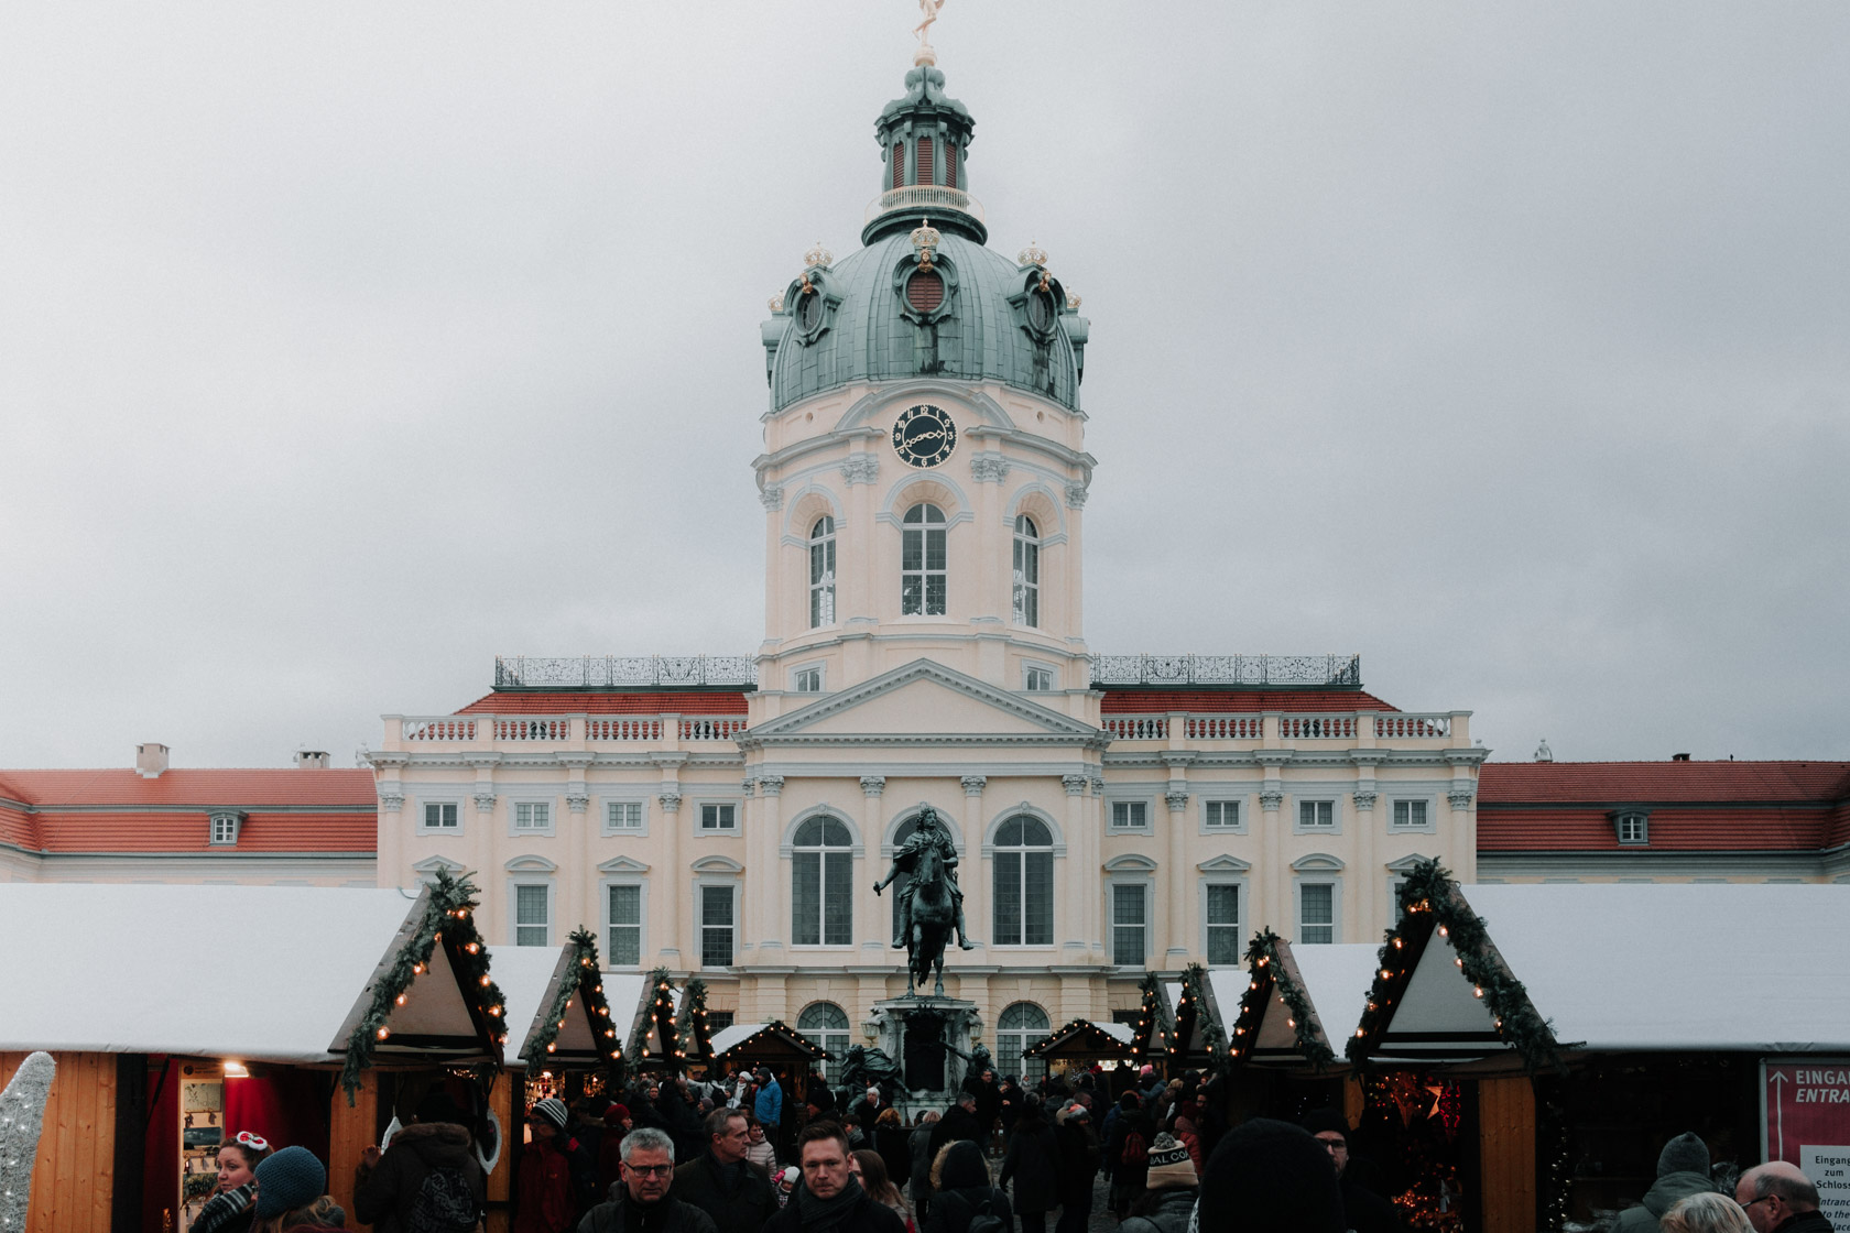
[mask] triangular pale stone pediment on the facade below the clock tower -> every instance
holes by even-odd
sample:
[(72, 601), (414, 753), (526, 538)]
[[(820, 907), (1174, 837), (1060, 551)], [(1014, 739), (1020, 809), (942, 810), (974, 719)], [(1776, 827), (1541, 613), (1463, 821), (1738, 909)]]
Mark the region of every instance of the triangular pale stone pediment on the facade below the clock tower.
[(1019, 693), (914, 660), (751, 730), (762, 745), (1093, 745), (1103, 734)]

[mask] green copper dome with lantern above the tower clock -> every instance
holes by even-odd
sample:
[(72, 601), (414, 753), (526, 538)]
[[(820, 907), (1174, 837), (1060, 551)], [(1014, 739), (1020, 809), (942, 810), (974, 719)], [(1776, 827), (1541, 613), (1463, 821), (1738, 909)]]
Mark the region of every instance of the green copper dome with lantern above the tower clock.
[(1088, 322), (1045, 253), (1014, 262), (984, 248), (964, 172), (973, 128), (938, 68), (906, 74), (906, 96), (875, 120), (884, 166), (866, 248), (838, 262), (812, 251), (764, 322), (771, 410), (910, 377), (1001, 381), (1079, 409)]

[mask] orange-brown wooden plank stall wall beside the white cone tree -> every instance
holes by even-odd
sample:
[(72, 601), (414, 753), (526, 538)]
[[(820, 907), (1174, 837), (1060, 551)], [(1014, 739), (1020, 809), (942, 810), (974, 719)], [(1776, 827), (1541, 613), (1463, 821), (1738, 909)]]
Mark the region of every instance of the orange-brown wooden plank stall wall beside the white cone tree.
[[(57, 1076), (31, 1166), (26, 1233), (109, 1233), (115, 1196), (115, 1054), (54, 1054)], [(26, 1054), (0, 1054), (0, 1087)]]

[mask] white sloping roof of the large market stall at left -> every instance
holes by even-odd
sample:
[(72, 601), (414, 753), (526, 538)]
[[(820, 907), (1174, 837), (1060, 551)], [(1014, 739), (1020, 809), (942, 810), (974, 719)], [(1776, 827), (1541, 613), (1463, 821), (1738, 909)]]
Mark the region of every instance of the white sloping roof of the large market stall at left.
[(0, 885), (0, 1050), (337, 1061), (413, 906), (396, 889)]

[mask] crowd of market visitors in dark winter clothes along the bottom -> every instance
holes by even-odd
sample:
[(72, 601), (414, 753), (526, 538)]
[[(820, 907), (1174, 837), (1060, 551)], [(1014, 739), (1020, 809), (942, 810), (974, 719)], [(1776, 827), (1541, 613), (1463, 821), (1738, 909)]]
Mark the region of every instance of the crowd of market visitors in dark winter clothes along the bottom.
[[(821, 1074), (740, 1070), (633, 1080), (527, 1111), (512, 1233), (1084, 1233), (1095, 1181), (1121, 1233), (1289, 1229), (1391, 1233), (1402, 1220), (1350, 1163), (1336, 1109), (1223, 1126), (1217, 1080), (1143, 1067), (1112, 1098), (1092, 1072), (1023, 1085), (971, 1074), (912, 1124), (879, 1087), (844, 1100)], [(799, 1091), (797, 1091), (799, 1089)], [(614, 1096), (614, 1098), (612, 1098)], [(218, 1152), (218, 1187), (191, 1233), (346, 1229), (327, 1170), (252, 1131)], [(376, 1233), (464, 1233), (487, 1211), (468, 1118), (433, 1089), (385, 1152), (366, 1148), (353, 1213)], [(1832, 1233), (1783, 1161), (1717, 1174), (1693, 1133), (1613, 1233)]]

